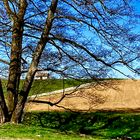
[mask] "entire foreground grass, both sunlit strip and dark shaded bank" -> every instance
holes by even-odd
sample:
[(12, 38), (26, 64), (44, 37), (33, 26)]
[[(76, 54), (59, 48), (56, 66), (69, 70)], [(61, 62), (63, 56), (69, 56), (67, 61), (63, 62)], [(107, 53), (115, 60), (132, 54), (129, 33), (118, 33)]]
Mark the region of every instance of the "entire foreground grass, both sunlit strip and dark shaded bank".
[(140, 114), (119, 112), (28, 112), (21, 125), (0, 126), (0, 137), (34, 140), (140, 139)]

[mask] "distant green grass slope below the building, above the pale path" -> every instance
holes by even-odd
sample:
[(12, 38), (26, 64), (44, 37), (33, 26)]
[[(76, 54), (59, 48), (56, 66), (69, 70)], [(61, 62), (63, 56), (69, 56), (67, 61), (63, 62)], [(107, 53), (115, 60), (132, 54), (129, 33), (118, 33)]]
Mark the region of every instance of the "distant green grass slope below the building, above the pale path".
[[(74, 80), (74, 79), (47, 79), (47, 80), (34, 80), (30, 95), (40, 94), (44, 92), (51, 92), (54, 90), (59, 90), (63, 88), (78, 86), (85, 84), (87, 82), (92, 82), (90, 79)], [(3, 90), (6, 92), (7, 80), (2, 80)], [(23, 85), (21, 80), (20, 88)]]

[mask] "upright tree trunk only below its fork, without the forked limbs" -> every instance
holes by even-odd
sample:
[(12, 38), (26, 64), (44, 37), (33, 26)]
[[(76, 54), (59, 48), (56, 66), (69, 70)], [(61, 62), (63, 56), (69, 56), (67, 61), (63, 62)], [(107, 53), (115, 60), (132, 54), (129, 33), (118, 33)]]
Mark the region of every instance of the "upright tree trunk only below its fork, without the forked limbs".
[(12, 113), (17, 102), (17, 91), (21, 73), (21, 49), (22, 49), (22, 23), (14, 21), (12, 33), (12, 47), (10, 56), (9, 78), (7, 84), (7, 103), (9, 112)]

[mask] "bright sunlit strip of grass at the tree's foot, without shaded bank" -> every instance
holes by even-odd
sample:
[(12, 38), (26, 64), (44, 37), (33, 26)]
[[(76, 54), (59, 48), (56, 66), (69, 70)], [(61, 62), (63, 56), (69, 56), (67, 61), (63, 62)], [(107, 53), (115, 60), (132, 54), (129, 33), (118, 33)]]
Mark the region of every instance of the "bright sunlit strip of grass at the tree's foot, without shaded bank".
[[(28, 140), (96, 140), (91, 136), (65, 134), (63, 132), (37, 126), (11, 125), (0, 126), (0, 139), (28, 139)], [(98, 140), (98, 138), (97, 138)]]

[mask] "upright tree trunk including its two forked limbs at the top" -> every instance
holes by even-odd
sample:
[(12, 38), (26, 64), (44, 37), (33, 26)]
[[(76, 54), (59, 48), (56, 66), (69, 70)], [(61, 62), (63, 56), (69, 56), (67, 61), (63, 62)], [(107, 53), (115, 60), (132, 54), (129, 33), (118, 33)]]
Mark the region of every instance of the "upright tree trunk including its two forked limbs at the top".
[(18, 89), (19, 81), (21, 76), (21, 53), (22, 53), (22, 38), (23, 38), (23, 27), (24, 27), (24, 15), (27, 8), (27, 1), (20, 0), (18, 12), (13, 12), (8, 1), (4, 1), (4, 5), (11, 19), (12, 26), (12, 46), (10, 55), (10, 67), (9, 67), (9, 77), (7, 84), (7, 105), (10, 115), (14, 111), (18, 101)]

